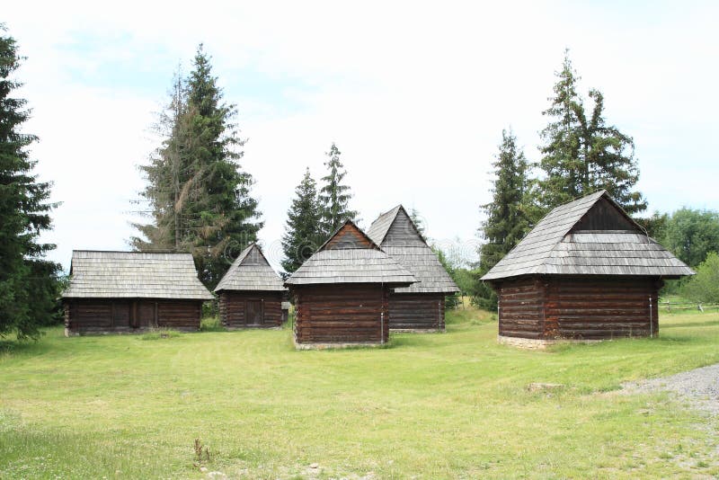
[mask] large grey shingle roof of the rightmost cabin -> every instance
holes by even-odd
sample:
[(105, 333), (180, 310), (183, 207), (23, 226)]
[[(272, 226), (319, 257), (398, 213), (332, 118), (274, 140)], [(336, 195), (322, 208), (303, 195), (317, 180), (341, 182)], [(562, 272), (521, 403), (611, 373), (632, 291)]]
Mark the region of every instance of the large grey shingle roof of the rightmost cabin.
[(482, 280), (533, 274), (672, 278), (694, 271), (598, 191), (550, 211)]

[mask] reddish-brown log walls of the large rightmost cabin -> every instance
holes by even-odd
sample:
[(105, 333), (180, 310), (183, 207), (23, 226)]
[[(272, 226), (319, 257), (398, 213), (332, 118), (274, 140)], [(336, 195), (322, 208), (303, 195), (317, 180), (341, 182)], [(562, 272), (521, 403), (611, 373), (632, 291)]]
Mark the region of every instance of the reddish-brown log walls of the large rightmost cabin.
[(537, 340), (657, 335), (660, 288), (661, 281), (643, 277), (556, 276), (504, 281), (495, 284), (499, 333)]

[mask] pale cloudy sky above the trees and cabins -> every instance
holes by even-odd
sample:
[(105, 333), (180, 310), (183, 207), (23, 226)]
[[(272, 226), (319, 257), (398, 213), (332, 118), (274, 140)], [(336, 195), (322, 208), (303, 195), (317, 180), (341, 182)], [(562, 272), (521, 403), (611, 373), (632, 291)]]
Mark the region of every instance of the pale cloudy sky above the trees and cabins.
[(323, 176), (332, 142), (361, 227), (402, 203), (474, 258), (502, 129), (539, 159), (564, 49), (634, 138), (649, 212), (719, 209), (717, 17), (715, 2), (28, 1), (0, 22), (26, 57), (36, 173), (61, 202), (42, 239), (67, 269), (73, 249), (129, 249), (156, 112), (200, 43), (237, 106), (274, 265), (294, 188), (306, 167)]

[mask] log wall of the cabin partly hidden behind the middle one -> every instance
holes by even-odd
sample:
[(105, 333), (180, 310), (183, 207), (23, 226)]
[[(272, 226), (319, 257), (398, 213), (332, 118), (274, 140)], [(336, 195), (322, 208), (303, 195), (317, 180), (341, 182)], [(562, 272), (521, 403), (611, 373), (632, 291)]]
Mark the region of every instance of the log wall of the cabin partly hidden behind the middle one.
[(444, 294), (390, 293), (389, 328), (444, 330)]

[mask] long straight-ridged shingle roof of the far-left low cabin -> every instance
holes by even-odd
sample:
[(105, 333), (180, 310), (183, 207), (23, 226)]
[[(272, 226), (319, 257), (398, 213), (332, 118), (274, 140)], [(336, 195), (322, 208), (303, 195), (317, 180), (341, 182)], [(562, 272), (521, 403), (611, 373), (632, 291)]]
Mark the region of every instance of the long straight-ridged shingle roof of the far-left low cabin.
[(211, 300), (190, 253), (75, 250), (63, 298)]

